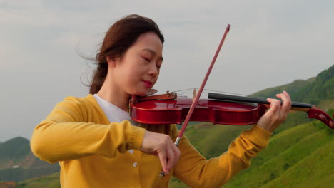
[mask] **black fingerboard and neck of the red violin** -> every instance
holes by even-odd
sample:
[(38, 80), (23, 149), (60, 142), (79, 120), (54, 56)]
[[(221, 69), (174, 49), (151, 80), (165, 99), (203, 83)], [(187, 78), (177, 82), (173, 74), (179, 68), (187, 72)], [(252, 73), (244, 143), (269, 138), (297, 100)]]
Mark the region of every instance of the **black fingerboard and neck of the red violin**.
[[(227, 101), (233, 101), (233, 102), (241, 102), (241, 103), (258, 103), (263, 105), (270, 105), (270, 103), (264, 99), (264, 98), (250, 98), (250, 97), (243, 97), (243, 96), (236, 96), (236, 95), (227, 95), (227, 94), (221, 94), (221, 93), (208, 93), (209, 99), (215, 99), (215, 100), (227, 100)], [(280, 103), (283, 103), (282, 100), (280, 100)], [(291, 105), (291, 110), (298, 110), (298, 111), (308, 111), (310, 108), (312, 108), (313, 105), (308, 103), (295, 103), (293, 102)]]

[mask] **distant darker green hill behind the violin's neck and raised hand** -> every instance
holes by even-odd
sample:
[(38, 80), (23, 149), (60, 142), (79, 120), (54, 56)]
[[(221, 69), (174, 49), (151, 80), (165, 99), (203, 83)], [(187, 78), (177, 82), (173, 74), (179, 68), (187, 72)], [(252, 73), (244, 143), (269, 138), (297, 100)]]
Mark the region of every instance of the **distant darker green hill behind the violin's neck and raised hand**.
[[(293, 83), (281, 85), (275, 88), (268, 88), (250, 95), (251, 97), (275, 97), (276, 93), (283, 90), (288, 91), (291, 100), (300, 103), (310, 103), (316, 105), (325, 111), (329, 111), (329, 115), (333, 114), (331, 109), (334, 108), (334, 65), (319, 73), (315, 78), (308, 80), (295, 80)], [(295, 125), (304, 122), (311, 122), (308, 115), (303, 112), (294, 112), (288, 115), (288, 119), (275, 130), (278, 133)]]

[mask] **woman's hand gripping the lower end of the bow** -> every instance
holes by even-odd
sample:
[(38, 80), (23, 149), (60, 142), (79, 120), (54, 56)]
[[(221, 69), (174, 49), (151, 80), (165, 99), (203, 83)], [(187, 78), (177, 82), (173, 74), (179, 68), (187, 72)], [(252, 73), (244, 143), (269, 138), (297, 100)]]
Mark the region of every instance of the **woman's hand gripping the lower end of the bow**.
[(156, 155), (161, 162), (163, 172), (168, 174), (178, 162), (180, 150), (169, 135), (146, 130), (141, 144), (141, 151), (148, 155)]

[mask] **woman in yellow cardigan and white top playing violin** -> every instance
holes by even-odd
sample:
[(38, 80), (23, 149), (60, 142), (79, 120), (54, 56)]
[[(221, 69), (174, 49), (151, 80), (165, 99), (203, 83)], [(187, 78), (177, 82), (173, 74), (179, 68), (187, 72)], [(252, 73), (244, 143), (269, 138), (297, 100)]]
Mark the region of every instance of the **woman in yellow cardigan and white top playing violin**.
[[(143, 96), (158, 79), (164, 38), (154, 21), (126, 16), (109, 28), (96, 55), (90, 94), (68, 97), (34, 130), (31, 150), (61, 165), (61, 187), (168, 187), (175, 176), (191, 187), (219, 187), (268, 145), (285, 120), (290, 96), (270, 99), (257, 125), (234, 140), (228, 152), (206, 160), (176, 125), (143, 125), (128, 114), (131, 95)], [(222, 151), (223, 152), (223, 151)], [(163, 169), (166, 176), (159, 178)]]

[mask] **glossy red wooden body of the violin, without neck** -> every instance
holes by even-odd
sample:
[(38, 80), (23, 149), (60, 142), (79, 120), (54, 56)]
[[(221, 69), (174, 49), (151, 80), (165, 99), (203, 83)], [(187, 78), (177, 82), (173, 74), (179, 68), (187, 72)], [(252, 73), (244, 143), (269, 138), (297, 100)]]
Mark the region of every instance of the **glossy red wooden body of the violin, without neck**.
[[(143, 100), (131, 104), (131, 117), (145, 124), (181, 124), (193, 100)], [(193, 110), (191, 121), (212, 122), (223, 125), (252, 125), (265, 113), (264, 105), (248, 105), (218, 100), (200, 99)]]

